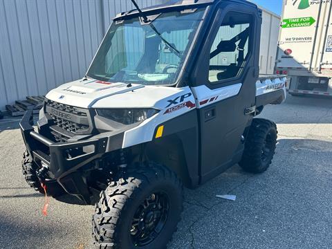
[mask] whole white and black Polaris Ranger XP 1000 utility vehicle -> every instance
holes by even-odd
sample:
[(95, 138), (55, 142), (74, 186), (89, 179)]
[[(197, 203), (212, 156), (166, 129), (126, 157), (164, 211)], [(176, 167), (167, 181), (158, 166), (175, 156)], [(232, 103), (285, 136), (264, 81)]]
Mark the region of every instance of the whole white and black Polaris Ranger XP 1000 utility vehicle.
[(197, 187), (230, 166), (264, 172), (286, 98), (259, 77), (261, 10), (242, 0), (183, 0), (113, 19), (85, 77), (46, 95), (37, 131), (21, 120), (35, 190), (95, 204), (98, 248), (165, 248)]

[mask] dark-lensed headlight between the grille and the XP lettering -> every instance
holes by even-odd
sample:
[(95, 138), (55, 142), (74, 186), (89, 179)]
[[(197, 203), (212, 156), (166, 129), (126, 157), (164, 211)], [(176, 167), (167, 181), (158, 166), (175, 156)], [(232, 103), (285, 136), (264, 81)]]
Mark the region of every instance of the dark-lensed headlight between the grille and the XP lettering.
[(96, 109), (97, 114), (121, 124), (134, 124), (151, 118), (159, 110), (156, 109)]

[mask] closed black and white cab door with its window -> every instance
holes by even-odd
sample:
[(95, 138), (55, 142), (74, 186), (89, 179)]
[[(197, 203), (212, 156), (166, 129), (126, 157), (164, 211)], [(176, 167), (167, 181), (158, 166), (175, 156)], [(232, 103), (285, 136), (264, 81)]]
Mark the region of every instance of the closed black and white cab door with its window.
[(255, 110), (261, 17), (248, 3), (223, 2), (193, 80), (200, 122), (201, 183), (238, 163)]

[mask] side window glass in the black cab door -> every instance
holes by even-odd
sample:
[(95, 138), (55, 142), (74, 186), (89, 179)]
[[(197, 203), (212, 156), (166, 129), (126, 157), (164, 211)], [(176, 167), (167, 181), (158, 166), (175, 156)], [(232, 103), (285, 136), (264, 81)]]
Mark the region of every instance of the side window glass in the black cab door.
[(239, 77), (250, 56), (252, 39), (251, 16), (230, 12), (225, 17), (210, 50), (209, 81)]

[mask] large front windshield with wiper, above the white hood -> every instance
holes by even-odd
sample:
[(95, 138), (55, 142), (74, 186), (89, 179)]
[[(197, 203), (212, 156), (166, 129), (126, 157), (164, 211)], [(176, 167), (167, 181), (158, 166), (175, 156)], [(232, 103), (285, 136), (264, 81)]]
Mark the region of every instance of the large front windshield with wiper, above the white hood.
[(174, 84), (203, 10), (167, 12), (151, 24), (139, 17), (113, 22), (87, 73), (105, 82)]

